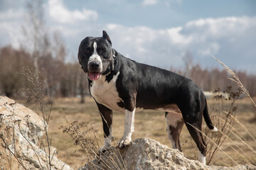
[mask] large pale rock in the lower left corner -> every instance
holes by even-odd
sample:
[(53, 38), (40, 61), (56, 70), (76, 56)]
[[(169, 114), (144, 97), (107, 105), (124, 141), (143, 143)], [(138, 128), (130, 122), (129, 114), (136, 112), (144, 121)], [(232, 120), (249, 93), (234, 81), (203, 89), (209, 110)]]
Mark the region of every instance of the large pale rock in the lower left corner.
[[(1, 170), (49, 169), (48, 147), (40, 147), (42, 142), (46, 141), (43, 140), (46, 137), (43, 119), (31, 109), (0, 96), (0, 132)], [(11, 152), (16, 154), (16, 158)], [(54, 152), (56, 153), (55, 148), (50, 147), (50, 154)], [(72, 169), (55, 155), (50, 157), (51, 169)]]

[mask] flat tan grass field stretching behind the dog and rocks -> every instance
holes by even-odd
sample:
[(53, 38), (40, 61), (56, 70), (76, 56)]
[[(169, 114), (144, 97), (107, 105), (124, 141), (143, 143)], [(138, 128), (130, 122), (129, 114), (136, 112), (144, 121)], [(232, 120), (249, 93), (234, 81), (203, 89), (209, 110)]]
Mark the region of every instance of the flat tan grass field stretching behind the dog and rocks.
[[(242, 123), (242, 125), (247, 128), (247, 130), (256, 138), (256, 111), (255, 107), (249, 99), (243, 98), (236, 102), (238, 105), (238, 111), (236, 113), (236, 118)], [(208, 101), (209, 108), (212, 107), (213, 102)], [(32, 107), (32, 106), (28, 106)], [(82, 149), (79, 146), (73, 145), (71, 137), (67, 133), (63, 133), (60, 126), (68, 126), (68, 122), (65, 120), (65, 113), (68, 119), (71, 121), (78, 120), (80, 123), (92, 123), (98, 130), (100, 146), (103, 146), (103, 130), (102, 130), (102, 120), (100, 114), (97, 111), (97, 106), (92, 98), (87, 97), (85, 103), (81, 104), (79, 98), (56, 98), (53, 103), (52, 113), (49, 122), (49, 132), (52, 135), (52, 145), (58, 150), (58, 158), (63, 162), (66, 162), (74, 169), (85, 164), (86, 155), (83, 154)], [(203, 126), (206, 123), (203, 122)], [(238, 130), (238, 136), (241, 137), (245, 143), (237, 140), (236, 137), (230, 134), (230, 138), (233, 140), (225, 140), (223, 146), (221, 147), (224, 152), (226, 152), (230, 157), (232, 157), (238, 164), (246, 164), (248, 162), (243, 159), (243, 157), (235, 152), (231, 147), (240, 147), (252, 161), (256, 162), (256, 141), (250, 137), (248, 132), (239, 123), (234, 124), (234, 128)], [(122, 137), (124, 131), (124, 113), (113, 113), (113, 135), (114, 142), (112, 145), (116, 145), (118, 140)], [(135, 114), (135, 132), (132, 135), (132, 139), (138, 137), (149, 137), (151, 139), (157, 140), (164, 145), (171, 147), (166, 135), (166, 123), (164, 118), (164, 112), (160, 111), (141, 111)], [(190, 135), (186, 127), (183, 127), (181, 132), (181, 147), (183, 153), (186, 157), (190, 159), (195, 159), (194, 152), (198, 153), (197, 150), (191, 149), (191, 145), (194, 142), (191, 140)], [(231, 146), (231, 147), (230, 147)], [(196, 148), (196, 147), (194, 147)], [(254, 149), (254, 151), (252, 151)], [(248, 160), (248, 159), (247, 159)], [(230, 158), (228, 158), (223, 152), (219, 151), (216, 157), (213, 159), (212, 165), (225, 165), (231, 166), (235, 165)], [(253, 162), (250, 162), (253, 164)]]

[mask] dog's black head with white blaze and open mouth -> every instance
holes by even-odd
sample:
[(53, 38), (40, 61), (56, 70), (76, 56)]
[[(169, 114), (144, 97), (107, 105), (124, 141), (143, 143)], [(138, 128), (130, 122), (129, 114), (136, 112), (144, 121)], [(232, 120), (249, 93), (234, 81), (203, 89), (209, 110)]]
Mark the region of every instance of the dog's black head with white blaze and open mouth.
[(80, 43), (78, 60), (89, 79), (95, 81), (114, 69), (112, 42), (103, 30), (102, 37), (87, 37)]

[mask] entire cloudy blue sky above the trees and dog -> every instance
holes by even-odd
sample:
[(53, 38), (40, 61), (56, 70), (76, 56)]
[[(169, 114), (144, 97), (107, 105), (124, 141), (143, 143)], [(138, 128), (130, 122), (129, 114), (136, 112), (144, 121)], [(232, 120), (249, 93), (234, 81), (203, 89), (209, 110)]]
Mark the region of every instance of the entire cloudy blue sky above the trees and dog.
[[(0, 47), (20, 47), (26, 0), (0, 0)], [(250, 0), (43, 0), (49, 33), (63, 36), (68, 61), (78, 46), (106, 30), (125, 57), (164, 69), (184, 68), (186, 52), (203, 69), (256, 74), (256, 1)]]

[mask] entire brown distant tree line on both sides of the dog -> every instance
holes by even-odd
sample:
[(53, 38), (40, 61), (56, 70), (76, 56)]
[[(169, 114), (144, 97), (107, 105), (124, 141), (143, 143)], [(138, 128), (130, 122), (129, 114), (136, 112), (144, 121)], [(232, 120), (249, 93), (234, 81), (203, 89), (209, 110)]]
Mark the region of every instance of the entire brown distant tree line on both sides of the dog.
[[(64, 62), (65, 46), (59, 47), (61, 52), (54, 50), (41, 53), (38, 57), (40, 79), (46, 80), (49, 91), (46, 95), (55, 97), (75, 97), (90, 95), (88, 92), (87, 74), (78, 62)], [(16, 50), (11, 45), (0, 48), (0, 95), (18, 98), (21, 88), (28, 86), (21, 74), (23, 67), (35, 70), (33, 55), (23, 48)], [(228, 79), (230, 75), (220, 69), (202, 69), (199, 64), (187, 66), (185, 70), (173, 70), (178, 74), (192, 79), (204, 91), (213, 91), (217, 87), (236, 86)], [(247, 72), (236, 72), (242, 84), (256, 96), (256, 76)]]

